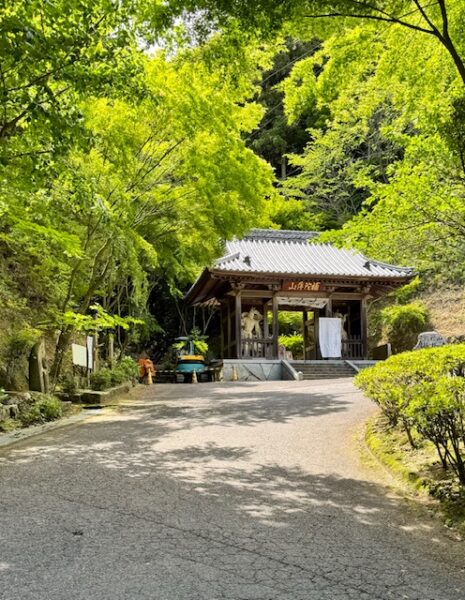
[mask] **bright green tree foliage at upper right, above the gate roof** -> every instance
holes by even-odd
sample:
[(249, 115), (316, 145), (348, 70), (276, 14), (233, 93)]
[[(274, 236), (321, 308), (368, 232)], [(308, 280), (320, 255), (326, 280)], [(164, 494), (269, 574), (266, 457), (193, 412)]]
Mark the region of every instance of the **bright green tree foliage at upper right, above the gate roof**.
[[(312, 115), (284, 193), (326, 239), (428, 278), (465, 279), (463, 2), (199, 0), (205, 20), (319, 39), (280, 84), (290, 123)], [(200, 19), (202, 21), (202, 19)], [(296, 218), (296, 214), (298, 214)], [(309, 218), (310, 215), (310, 218)], [(312, 217), (313, 216), (313, 217)], [(296, 223), (297, 221), (297, 223)]]

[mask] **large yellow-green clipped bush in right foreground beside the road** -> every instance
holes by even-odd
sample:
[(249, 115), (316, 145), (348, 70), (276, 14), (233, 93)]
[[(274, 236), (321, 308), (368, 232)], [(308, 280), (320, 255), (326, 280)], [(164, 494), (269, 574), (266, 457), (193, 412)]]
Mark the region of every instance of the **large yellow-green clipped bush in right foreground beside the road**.
[(392, 356), (355, 382), (412, 446), (433, 442), (442, 466), (465, 485), (465, 344)]

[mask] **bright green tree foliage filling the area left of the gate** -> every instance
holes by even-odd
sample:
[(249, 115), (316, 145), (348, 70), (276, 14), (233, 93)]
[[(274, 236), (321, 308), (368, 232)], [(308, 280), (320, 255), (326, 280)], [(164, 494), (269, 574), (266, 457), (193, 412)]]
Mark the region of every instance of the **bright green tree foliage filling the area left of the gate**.
[(158, 8), (20, 1), (2, 13), (0, 306), (7, 323), (60, 330), (55, 381), (76, 331), (111, 331), (122, 351), (149, 337), (154, 282), (179, 294), (273, 195), (243, 139), (263, 114), (253, 80), (267, 54), (250, 47), (240, 68), (219, 68), (217, 38), (145, 52), (141, 36), (166, 24)]

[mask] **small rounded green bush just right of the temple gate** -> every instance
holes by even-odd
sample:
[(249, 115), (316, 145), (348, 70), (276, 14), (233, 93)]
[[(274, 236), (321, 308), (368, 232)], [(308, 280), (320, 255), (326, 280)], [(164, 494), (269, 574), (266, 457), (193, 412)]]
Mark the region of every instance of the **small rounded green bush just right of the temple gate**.
[(394, 354), (411, 350), (427, 322), (428, 311), (419, 302), (387, 306), (381, 311), (383, 333)]

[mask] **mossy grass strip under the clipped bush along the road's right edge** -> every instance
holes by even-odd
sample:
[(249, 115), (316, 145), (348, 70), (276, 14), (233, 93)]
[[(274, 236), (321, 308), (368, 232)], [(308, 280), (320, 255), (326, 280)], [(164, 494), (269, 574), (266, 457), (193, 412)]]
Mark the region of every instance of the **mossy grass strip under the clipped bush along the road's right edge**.
[(431, 442), (416, 439), (413, 449), (406, 434), (389, 426), (383, 415), (370, 419), (365, 441), (376, 458), (411, 491), (429, 497), (448, 526), (465, 533), (465, 491), (438, 461)]

